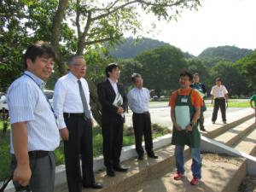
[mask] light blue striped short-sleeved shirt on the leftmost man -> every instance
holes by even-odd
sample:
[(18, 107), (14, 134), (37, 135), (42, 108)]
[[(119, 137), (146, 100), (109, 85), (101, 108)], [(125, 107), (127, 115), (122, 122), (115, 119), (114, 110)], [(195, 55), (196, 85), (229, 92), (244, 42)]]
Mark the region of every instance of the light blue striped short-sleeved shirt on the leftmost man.
[[(7, 101), (10, 123), (26, 122), (27, 150), (54, 151), (60, 135), (54, 113), (44, 96), (45, 83), (28, 71), (9, 87)], [(12, 134), (10, 151), (14, 154)]]

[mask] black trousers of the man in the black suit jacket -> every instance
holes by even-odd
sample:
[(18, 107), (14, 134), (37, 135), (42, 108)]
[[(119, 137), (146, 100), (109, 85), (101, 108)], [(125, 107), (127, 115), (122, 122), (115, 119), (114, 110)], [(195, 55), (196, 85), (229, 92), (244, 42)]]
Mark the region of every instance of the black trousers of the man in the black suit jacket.
[(123, 147), (123, 130), (124, 124), (120, 121), (102, 125), (104, 165), (107, 167), (119, 166)]

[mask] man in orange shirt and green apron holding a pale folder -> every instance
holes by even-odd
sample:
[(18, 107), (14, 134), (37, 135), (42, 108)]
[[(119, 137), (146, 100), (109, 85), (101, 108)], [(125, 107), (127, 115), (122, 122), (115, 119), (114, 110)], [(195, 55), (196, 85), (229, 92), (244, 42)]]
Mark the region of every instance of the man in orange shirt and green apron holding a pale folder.
[(184, 174), (184, 145), (191, 150), (193, 179), (191, 184), (199, 184), (201, 178), (201, 136), (197, 128), (197, 121), (200, 117), (202, 99), (198, 91), (189, 87), (193, 75), (188, 72), (180, 74), (180, 89), (175, 90), (170, 98), (171, 118), (173, 124), (172, 144), (175, 147), (175, 159), (177, 172), (174, 179), (178, 180)]

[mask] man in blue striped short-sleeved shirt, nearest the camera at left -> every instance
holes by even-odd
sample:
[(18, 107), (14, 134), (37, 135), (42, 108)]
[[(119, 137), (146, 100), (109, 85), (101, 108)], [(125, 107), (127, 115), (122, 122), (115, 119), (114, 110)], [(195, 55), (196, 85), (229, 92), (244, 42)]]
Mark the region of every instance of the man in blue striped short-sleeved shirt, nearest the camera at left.
[(30, 45), (24, 55), (26, 71), (8, 90), (11, 169), (16, 191), (54, 192), (54, 150), (59, 146), (60, 135), (53, 109), (44, 95), (54, 59), (49, 44), (40, 41)]

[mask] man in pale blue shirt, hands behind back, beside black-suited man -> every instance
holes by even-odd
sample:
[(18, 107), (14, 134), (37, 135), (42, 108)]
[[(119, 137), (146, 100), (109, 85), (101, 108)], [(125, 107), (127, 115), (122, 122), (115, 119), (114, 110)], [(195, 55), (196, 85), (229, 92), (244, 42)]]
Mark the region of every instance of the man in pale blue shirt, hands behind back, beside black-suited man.
[(135, 134), (136, 151), (138, 154), (138, 160), (143, 160), (143, 135), (145, 140), (145, 148), (149, 158), (157, 159), (158, 156), (154, 154), (152, 131), (151, 131), (151, 119), (148, 112), (149, 102), (149, 90), (143, 87), (142, 76), (138, 73), (131, 75), (131, 81), (134, 84), (134, 88), (128, 92), (128, 105), (131, 108), (132, 124)]

